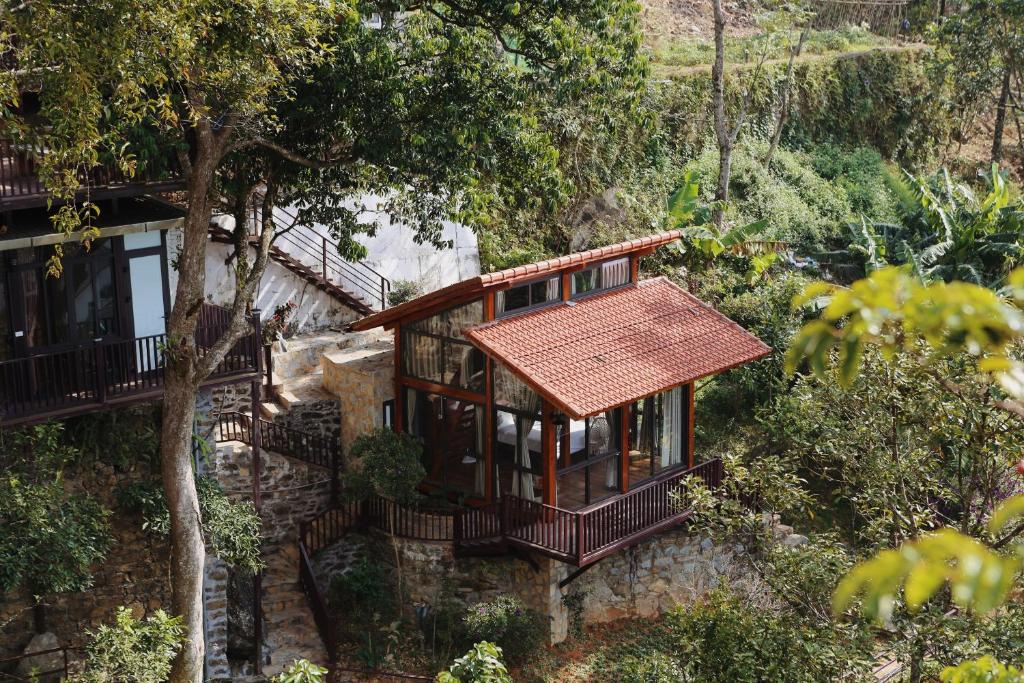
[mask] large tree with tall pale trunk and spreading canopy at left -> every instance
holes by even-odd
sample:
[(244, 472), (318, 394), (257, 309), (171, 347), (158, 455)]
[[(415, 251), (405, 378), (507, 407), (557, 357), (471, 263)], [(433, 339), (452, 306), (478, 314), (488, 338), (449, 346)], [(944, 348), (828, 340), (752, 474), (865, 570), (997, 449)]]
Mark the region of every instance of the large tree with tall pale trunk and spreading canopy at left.
[[(503, 207), (564, 201), (556, 146), (538, 124), (544, 102), (585, 101), (594, 117), (629, 111), (642, 85), (630, 0), (412, 3), (318, 0), (120, 0), (66, 6), (32, 0), (0, 13), (10, 60), (4, 101), (38, 92), (33, 127), (43, 178), (70, 199), (77, 171), (101, 157), (126, 171), (177, 153), (188, 203), (167, 335), (161, 437), (170, 509), (173, 610), (188, 640), (172, 680), (202, 669), (205, 551), (190, 445), (198, 387), (246, 333), (246, 312), (275, 234), (272, 209), (329, 224), (342, 252), (359, 229), (347, 197), (374, 193), (423, 239), (442, 219), (485, 227)], [(379, 11), (382, 29), (361, 20)], [(517, 57), (517, 61), (510, 58)], [(160, 154), (143, 157), (139, 138)], [(205, 290), (213, 211), (262, 208), (256, 253), (236, 222), (237, 294), (223, 336), (191, 343)], [(94, 208), (69, 203), (54, 223), (89, 227)], [(88, 231), (87, 231), (88, 234)], [(59, 256), (59, 255), (57, 255)], [(58, 259), (54, 261), (58, 270)]]

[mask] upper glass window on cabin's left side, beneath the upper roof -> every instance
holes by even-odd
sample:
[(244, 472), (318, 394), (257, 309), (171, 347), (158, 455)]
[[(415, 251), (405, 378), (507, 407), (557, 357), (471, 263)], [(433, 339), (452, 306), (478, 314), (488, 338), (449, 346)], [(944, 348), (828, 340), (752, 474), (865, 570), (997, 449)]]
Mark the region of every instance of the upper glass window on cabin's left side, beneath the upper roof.
[(474, 301), (401, 328), (402, 373), (409, 377), (482, 392), (483, 353), (463, 333), (483, 322), (483, 302)]

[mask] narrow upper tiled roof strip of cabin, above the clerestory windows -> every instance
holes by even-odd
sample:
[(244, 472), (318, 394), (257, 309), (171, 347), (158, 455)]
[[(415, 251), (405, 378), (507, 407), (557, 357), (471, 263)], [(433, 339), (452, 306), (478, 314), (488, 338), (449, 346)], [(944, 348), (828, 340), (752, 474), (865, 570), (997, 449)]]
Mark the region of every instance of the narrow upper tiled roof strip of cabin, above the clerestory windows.
[(349, 326), (352, 330), (373, 330), (380, 327), (391, 327), (396, 322), (408, 317), (418, 317), (421, 313), (433, 309), (437, 304), (447, 303), (456, 305), (463, 301), (469, 301), (479, 296), (484, 290), (492, 288), (501, 289), (516, 283), (542, 278), (548, 273), (558, 272), (565, 268), (570, 268), (589, 263), (596, 263), (616, 256), (627, 256), (636, 252), (657, 249), (670, 242), (675, 242), (682, 237), (682, 230), (668, 230), (657, 234), (650, 234), (636, 240), (620, 242), (607, 247), (598, 247), (568, 256), (559, 256), (546, 261), (529, 263), (527, 265), (517, 265), (514, 268), (506, 268), (497, 272), (488, 272), (468, 280), (463, 280), (454, 285), (441, 288), (430, 294), (407, 301), (393, 308), (382, 310), (379, 313), (368, 315), (355, 321)]

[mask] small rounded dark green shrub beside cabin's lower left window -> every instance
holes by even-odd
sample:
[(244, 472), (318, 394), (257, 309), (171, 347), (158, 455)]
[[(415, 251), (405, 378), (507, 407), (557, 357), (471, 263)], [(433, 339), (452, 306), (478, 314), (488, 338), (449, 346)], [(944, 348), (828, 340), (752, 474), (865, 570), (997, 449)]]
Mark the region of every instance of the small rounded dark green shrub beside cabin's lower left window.
[(417, 487), (427, 475), (422, 464), (423, 445), (393, 429), (378, 429), (352, 443), (352, 467), (344, 475), (345, 496), (366, 500), (383, 496), (397, 503), (419, 499)]

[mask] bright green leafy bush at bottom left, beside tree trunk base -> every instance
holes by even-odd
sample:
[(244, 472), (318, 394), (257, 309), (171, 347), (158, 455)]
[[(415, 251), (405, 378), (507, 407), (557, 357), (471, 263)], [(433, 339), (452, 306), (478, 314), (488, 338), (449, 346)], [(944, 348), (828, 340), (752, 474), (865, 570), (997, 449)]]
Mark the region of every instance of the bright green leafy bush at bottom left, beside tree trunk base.
[(85, 670), (73, 683), (163, 683), (184, 639), (180, 617), (157, 610), (145, 621), (119, 607), (114, 626), (89, 633)]

